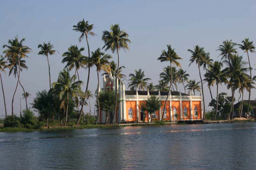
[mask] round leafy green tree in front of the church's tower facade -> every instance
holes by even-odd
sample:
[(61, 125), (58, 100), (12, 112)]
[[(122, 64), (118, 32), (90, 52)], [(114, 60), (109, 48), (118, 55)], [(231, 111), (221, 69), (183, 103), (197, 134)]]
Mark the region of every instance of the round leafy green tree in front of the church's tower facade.
[(115, 107), (115, 92), (100, 92), (99, 103), (101, 109), (106, 112), (106, 123), (109, 123), (109, 114), (114, 111)]

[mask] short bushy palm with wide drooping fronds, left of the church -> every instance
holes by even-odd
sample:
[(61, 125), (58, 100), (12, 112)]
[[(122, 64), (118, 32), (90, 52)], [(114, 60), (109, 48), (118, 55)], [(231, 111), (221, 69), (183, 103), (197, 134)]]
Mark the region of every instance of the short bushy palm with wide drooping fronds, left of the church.
[(64, 105), (66, 104), (66, 118), (64, 125), (67, 124), (69, 99), (76, 98), (77, 95), (84, 96), (84, 93), (81, 91), (80, 88), (80, 85), (83, 82), (76, 81), (72, 83), (74, 79), (76, 79), (76, 75), (70, 76), (69, 71), (63, 69), (59, 73), (57, 82), (52, 83), (53, 93), (59, 95), (60, 97), (60, 108), (64, 107)]

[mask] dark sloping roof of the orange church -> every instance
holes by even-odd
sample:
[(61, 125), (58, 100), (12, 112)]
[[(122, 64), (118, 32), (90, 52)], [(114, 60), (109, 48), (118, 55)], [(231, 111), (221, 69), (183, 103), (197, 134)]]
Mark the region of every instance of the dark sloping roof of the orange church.
[[(171, 91), (172, 96), (179, 96), (180, 92), (177, 91)], [(125, 90), (125, 95), (136, 95), (136, 90)], [(147, 96), (148, 91), (144, 90), (138, 90), (138, 95)], [(156, 95), (158, 96), (158, 91), (149, 91), (149, 95)], [(161, 96), (167, 96), (168, 91), (160, 91)], [(188, 94), (181, 93), (181, 96), (189, 96)]]

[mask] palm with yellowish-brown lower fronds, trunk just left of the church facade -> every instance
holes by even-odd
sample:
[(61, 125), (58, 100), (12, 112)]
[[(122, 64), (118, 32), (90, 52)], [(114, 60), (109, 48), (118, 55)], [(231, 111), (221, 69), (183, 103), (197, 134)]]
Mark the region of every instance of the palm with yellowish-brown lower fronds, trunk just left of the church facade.
[(108, 60), (111, 58), (112, 58), (111, 55), (101, 52), (100, 48), (98, 48), (94, 52), (92, 52), (91, 62), (93, 65), (96, 66), (96, 71), (97, 71), (97, 76), (98, 76), (98, 86), (97, 86), (98, 90), (97, 90), (97, 96), (96, 96), (96, 101), (97, 101), (97, 105), (98, 105), (98, 113), (97, 113), (96, 123), (99, 119), (99, 113), (100, 113), (100, 103), (99, 103), (100, 77), (99, 77), (99, 72), (101, 70), (104, 70), (104, 71), (110, 70)]

